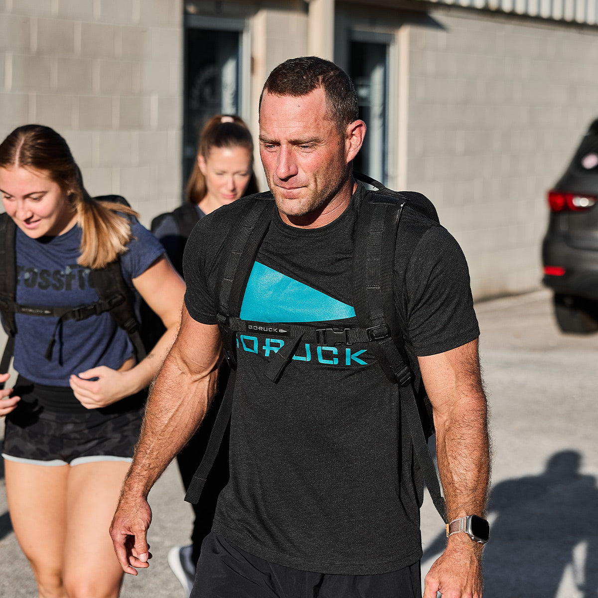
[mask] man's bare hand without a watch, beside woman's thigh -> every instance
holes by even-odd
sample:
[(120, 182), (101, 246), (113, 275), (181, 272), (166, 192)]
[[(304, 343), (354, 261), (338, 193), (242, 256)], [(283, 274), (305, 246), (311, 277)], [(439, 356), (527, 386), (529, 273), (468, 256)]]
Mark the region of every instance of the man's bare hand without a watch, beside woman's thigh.
[(110, 526), (110, 536), (118, 562), (125, 573), (137, 575), (137, 569), (147, 569), (151, 559), (146, 533), (151, 523), (151, 508), (147, 500), (137, 501), (121, 496)]

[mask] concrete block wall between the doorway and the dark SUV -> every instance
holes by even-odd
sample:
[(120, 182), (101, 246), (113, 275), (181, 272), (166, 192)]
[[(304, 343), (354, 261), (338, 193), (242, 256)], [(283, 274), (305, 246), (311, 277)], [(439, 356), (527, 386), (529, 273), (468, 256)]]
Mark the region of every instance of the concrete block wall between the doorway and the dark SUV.
[(407, 187), (460, 242), (475, 297), (538, 288), (546, 191), (598, 117), (598, 30), (431, 16), (409, 31)]

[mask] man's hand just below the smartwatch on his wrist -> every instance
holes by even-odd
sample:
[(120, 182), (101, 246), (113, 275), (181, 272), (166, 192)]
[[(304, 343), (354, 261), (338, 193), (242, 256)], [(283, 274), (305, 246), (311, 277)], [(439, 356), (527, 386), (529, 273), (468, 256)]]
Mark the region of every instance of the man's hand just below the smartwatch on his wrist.
[(482, 545), (466, 533), (449, 538), (444, 553), (438, 557), (426, 575), (423, 598), (482, 598)]

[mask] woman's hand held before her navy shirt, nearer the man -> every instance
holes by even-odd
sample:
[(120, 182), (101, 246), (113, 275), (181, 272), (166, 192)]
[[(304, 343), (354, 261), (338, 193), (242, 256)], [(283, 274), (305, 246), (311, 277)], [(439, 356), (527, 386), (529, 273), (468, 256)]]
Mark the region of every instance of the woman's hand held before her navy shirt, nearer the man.
[(130, 371), (117, 371), (99, 365), (80, 374), (73, 374), (69, 384), (83, 407), (107, 407), (137, 392), (132, 385)]

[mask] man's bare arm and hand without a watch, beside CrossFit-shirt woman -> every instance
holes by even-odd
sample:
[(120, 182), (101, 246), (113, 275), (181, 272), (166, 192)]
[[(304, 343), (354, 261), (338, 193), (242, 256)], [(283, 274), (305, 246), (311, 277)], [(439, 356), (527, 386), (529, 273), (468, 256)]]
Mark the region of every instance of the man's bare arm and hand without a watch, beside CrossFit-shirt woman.
[(183, 306), (181, 327), (148, 398), (141, 436), (110, 535), (124, 572), (149, 566), (149, 490), (202, 422), (216, 391), (221, 338)]

